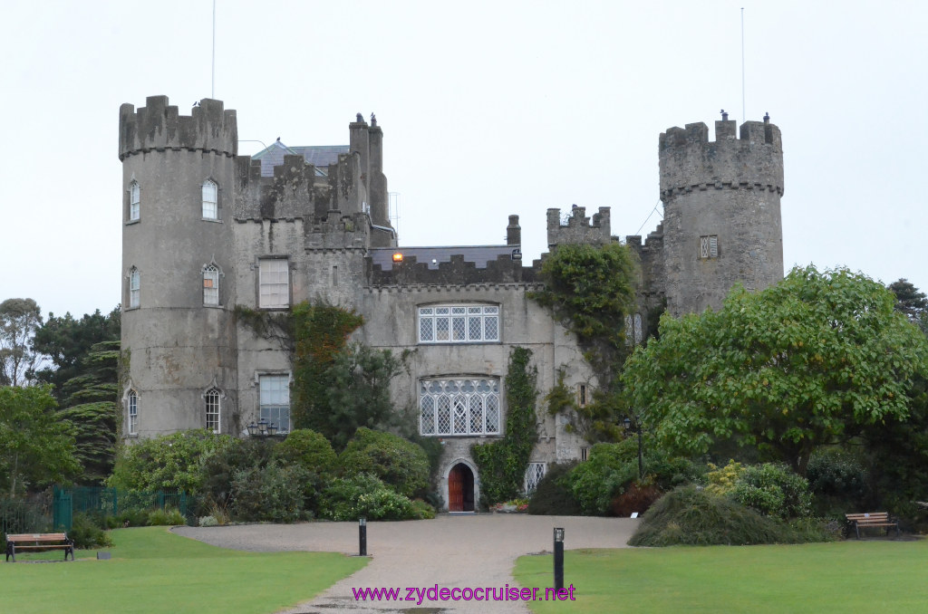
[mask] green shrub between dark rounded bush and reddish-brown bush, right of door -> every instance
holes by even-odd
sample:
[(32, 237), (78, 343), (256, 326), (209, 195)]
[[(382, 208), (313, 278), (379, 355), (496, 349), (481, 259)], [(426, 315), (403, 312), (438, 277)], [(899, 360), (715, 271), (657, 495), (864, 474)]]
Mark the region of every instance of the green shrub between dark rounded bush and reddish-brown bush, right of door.
[(638, 478), (638, 443), (631, 439), (619, 443), (597, 443), (589, 460), (570, 473), (574, 499), (587, 516), (605, 516), (612, 498), (625, 491), (625, 485)]

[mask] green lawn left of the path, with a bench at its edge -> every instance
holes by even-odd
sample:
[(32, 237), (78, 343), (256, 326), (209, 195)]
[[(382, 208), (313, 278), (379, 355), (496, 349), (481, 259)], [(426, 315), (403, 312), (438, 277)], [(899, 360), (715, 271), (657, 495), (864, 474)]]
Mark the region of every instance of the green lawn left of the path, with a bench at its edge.
[[(165, 527), (110, 532), (116, 544), (110, 560), (98, 561), (96, 550), (79, 550), (74, 562), (5, 563), (0, 610), (266, 614), (310, 599), (367, 564), (329, 553), (226, 550)], [(50, 551), (27, 558), (63, 556)]]

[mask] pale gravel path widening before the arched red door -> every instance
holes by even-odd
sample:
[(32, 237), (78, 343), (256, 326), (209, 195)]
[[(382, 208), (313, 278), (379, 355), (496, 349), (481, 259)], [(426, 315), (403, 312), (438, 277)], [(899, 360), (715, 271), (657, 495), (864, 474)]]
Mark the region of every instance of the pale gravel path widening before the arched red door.
[[(564, 547), (621, 548), (638, 525), (630, 518), (583, 518), (526, 516), (522, 514), (441, 515), (434, 520), (369, 522), (366, 568), (336, 582), (312, 601), (281, 614), (329, 614), (350, 611), (445, 612), (526, 614), (519, 601), (416, 601), (356, 602), (353, 588), (406, 587), (439, 588), (495, 587), (516, 585), (512, 567), (518, 556), (550, 552), (552, 529), (565, 530)], [(238, 550), (274, 552), (309, 550), (357, 554), (357, 523), (312, 522), (295, 525), (244, 525), (235, 527), (179, 527), (179, 535)], [(564, 573), (570, 584), (570, 570)]]

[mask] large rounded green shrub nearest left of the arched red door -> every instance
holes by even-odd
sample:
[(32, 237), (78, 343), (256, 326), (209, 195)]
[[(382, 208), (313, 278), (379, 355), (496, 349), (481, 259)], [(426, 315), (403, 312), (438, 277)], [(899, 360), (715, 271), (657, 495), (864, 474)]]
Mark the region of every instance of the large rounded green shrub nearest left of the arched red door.
[(429, 488), (425, 451), (391, 433), (357, 429), (339, 456), (339, 464), (346, 476), (371, 474), (406, 497), (423, 495)]

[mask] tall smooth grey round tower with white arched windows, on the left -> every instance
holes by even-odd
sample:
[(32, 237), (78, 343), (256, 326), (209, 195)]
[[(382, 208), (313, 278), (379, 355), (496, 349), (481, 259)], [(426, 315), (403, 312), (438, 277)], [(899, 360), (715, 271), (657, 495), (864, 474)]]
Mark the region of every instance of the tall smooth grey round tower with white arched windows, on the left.
[(236, 432), (234, 110), (120, 108), (124, 438)]

